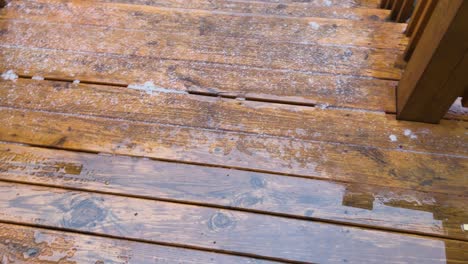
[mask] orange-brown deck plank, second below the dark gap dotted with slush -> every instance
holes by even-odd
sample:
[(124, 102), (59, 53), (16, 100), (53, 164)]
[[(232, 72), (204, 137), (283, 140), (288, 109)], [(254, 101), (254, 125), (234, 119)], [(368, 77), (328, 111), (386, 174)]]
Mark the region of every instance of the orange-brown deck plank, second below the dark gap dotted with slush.
[(462, 157), (3, 108), (0, 116), (3, 141), (467, 195)]

